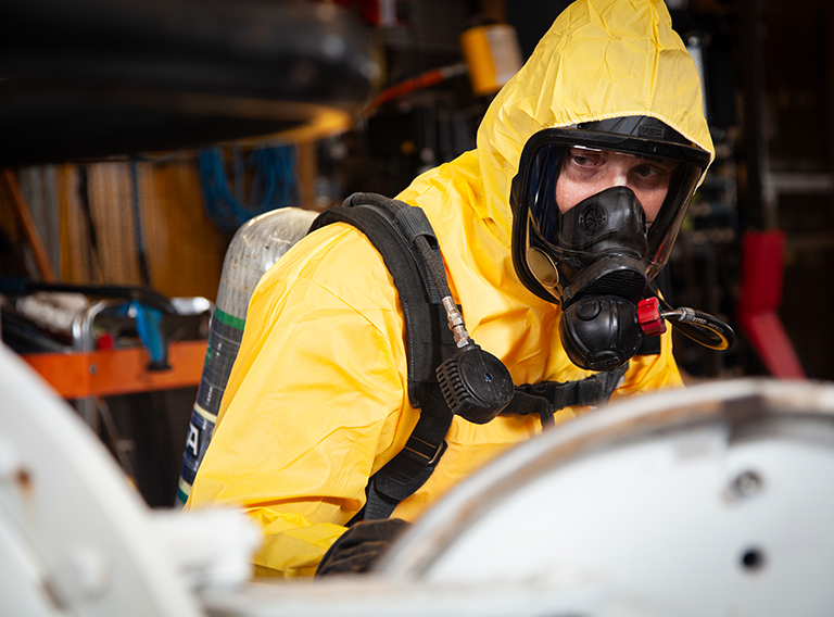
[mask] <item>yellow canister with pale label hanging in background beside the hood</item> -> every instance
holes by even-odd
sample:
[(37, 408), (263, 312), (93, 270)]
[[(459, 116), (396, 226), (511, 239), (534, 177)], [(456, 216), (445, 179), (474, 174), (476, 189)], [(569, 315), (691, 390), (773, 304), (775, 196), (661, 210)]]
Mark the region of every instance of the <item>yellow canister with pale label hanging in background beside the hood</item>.
[(460, 35), (460, 48), (479, 97), (497, 92), (523, 64), (516, 29), (508, 24), (469, 28)]

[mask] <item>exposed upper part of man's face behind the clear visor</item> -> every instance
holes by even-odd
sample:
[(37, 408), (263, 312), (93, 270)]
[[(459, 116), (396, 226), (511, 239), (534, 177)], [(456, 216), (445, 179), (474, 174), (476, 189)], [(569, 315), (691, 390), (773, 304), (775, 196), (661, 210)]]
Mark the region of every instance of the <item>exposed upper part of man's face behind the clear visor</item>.
[(556, 182), (556, 204), (568, 210), (611, 187), (627, 187), (646, 213), (650, 225), (669, 191), (677, 164), (623, 152), (576, 146), (567, 151)]

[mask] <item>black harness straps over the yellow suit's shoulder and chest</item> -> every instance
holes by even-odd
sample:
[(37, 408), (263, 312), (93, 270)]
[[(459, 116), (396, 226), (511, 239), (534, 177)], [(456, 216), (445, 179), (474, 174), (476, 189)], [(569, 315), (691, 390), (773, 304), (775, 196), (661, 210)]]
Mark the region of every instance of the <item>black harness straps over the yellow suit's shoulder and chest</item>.
[[(429, 276), (426, 260), (414, 248), (424, 236), (440, 257), (434, 231), (422, 210), (375, 193), (354, 193), (342, 206), (323, 212), (311, 231), (330, 223), (348, 223), (362, 231), (382, 255), (394, 279), (405, 319), (408, 398), (420, 417), (405, 448), (368, 482), (367, 503), (351, 520), (388, 518), (396, 505), (414, 494), (434, 471), (446, 450), (452, 411), (441, 392), (435, 368), (455, 353), (446, 313)], [(568, 405), (593, 405), (610, 398), (626, 372), (599, 374), (581, 381), (546, 381), (516, 387), (503, 414), (539, 414), (543, 426)], [(350, 525), (349, 524), (349, 525)]]

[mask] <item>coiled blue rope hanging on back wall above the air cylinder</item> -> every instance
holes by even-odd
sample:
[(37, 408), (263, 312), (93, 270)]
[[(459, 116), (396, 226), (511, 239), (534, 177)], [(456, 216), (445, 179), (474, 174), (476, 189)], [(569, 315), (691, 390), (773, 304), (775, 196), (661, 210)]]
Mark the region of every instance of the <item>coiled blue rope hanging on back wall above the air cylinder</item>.
[[(245, 160), (238, 150), (232, 159), (233, 181), (219, 147), (201, 150), (197, 155), (205, 212), (224, 232), (233, 234), (258, 214), (300, 201), (295, 147), (257, 148)], [(241, 196), (245, 194), (247, 176), (251, 181), (244, 202)]]

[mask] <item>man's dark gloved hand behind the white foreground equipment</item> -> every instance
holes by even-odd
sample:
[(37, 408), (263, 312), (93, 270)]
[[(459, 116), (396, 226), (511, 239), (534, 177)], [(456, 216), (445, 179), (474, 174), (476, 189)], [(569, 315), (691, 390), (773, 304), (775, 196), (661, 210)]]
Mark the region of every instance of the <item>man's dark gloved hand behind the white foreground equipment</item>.
[(400, 518), (355, 524), (325, 553), (316, 577), (368, 571), (408, 527), (410, 522)]

